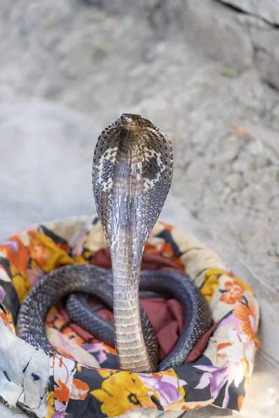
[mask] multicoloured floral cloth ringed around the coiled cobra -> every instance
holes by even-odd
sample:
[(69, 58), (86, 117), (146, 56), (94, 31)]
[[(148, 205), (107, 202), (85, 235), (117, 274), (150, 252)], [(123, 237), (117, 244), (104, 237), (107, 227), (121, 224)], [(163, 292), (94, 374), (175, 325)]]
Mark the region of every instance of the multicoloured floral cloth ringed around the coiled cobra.
[(44, 418), (117, 417), (142, 408), (183, 412), (208, 404), (240, 410), (259, 345), (255, 295), (216, 251), (162, 222), (154, 227), (145, 254), (160, 254), (185, 270), (208, 300), (216, 325), (195, 361), (161, 373), (119, 371), (114, 349), (69, 327), (57, 307), (47, 315), (46, 329), (61, 355), (16, 336), (20, 304), (43, 274), (60, 265), (93, 262), (105, 248), (96, 217), (33, 225), (0, 246), (3, 399)]

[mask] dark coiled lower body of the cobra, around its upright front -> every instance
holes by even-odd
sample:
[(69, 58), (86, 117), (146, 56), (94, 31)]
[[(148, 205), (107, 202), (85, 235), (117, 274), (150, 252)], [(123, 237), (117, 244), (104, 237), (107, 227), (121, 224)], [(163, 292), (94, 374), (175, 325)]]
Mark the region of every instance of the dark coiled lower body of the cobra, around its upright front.
[[(193, 283), (182, 274), (160, 270), (143, 270), (140, 274), (140, 290), (168, 294), (182, 304), (186, 311), (186, 323), (176, 346), (158, 365), (163, 371), (185, 362), (199, 338), (211, 326), (209, 306)], [(107, 320), (84, 307), (73, 292), (82, 291), (102, 300), (107, 307), (113, 307), (112, 272), (96, 265), (65, 265), (46, 274), (27, 295), (20, 309), (17, 330), (20, 336), (33, 346), (54, 351), (45, 335), (45, 316), (61, 297), (71, 294), (67, 303), (72, 320), (91, 332), (101, 341), (114, 346), (114, 327)], [(153, 296), (153, 293), (150, 293)], [(70, 307), (70, 309), (69, 309)], [(141, 324), (144, 341), (153, 362), (157, 359), (157, 341), (153, 328), (141, 308)]]

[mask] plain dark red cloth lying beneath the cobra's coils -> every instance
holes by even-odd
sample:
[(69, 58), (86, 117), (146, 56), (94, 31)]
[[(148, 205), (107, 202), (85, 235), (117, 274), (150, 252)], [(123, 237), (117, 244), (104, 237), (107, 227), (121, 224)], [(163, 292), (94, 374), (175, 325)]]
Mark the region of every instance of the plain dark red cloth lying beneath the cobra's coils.
[[(102, 268), (112, 268), (109, 249), (101, 249), (98, 251), (91, 263)], [(185, 274), (180, 265), (177, 265), (173, 261), (157, 254), (144, 254), (142, 258), (142, 270), (172, 270)], [(158, 361), (160, 362), (176, 345), (181, 331), (183, 330), (185, 313), (181, 304), (175, 299), (165, 300), (164, 298), (146, 298), (141, 299), (140, 302), (156, 333), (156, 337), (158, 339)], [(91, 306), (94, 306), (97, 303), (97, 300), (91, 299)], [(59, 308), (63, 318), (66, 321), (70, 320), (68, 312), (63, 309), (61, 305)], [(109, 311), (108, 309), (100, 309), (98, 314), (110, 321), (110, 323), (113, 323), (112, 311)], [(98, 341), (97, 339), (92, 338), (88, 332), (82, 330), (79, 326), (74, 324), (71, 324), (70, 326), (88, 343)], [(204, 336), (199, 339), (195, 348), (193, 348), (192, 352), (188, 356), (186, 363), (194, 362), (195, 359), (203, 353), (211, 332), (212, 329), (209, 330), (209, 332), (206, 332)]]

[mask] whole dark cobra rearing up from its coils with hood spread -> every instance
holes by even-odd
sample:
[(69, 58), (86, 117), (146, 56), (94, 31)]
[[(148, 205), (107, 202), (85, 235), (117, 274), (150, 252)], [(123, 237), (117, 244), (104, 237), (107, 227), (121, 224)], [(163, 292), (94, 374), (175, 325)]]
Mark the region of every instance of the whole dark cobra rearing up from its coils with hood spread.
[[(184, 274), (141, 271), (144, 247), (167, 198), (173, 169), (169, 138), (146, 118), (122, 114), (103, 130), (93, 153), (92, 185), (112, 269), (71, 264), (45, 274), (20, 307), (17, 332), (24, 341), (53, 350), (45, 335), (45, 317), (57, 300), (70, 295), (67, 307), (77, 323), (89, 326), (103, 340), (105, 333), (110, 334), (108, 342), (115, 346), (119, 369), (151, 373), (186, 361), (211, 327), (209, 304)], [(186, 311), (181, 336), (160, 364), (153, 327), (140, 305), (142, 291), (167, 293)], [(79, 292), (107, 304), (114, 324), (104, 323), (96, 312), (84, 307)]]

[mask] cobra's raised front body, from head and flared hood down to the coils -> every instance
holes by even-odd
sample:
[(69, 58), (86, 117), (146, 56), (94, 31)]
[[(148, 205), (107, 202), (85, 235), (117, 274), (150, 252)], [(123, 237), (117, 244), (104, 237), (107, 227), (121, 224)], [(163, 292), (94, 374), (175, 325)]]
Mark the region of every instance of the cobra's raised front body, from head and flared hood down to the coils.
[(140, 268), (169, 192), (173, 160), (167, 135), (135, 114), (105, 128), (94, 151), (93, 194), (112, 258), (116, 355), (123, 370), (156, 367), (140, 326)]

